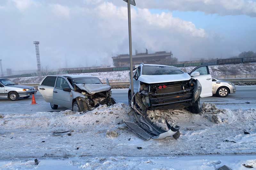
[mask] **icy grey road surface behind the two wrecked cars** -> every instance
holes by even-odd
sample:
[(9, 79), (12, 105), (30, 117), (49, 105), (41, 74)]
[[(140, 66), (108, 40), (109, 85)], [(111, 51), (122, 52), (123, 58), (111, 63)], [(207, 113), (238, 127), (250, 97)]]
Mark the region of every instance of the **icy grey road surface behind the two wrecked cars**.
[[(116, 103), (128, 104), (128, 89), (112, 89), (112, 96), (116, 99)], [(201, 99), (203, 102), (215, 103), (219, 108), (229, 109), (256, 109), (256, 86), (237, 86), (236, 94), (228, 97), (205, 97)], [(31, 97), (28, 99), (21, 98), (18, 101), (10, 101), (8, 99), (0, 99), (0, 113), (35, 113), (53, 111), (50, 103), (46, 103), (43, 96), (37, 92), (35, 95), (36, 105), (31, 107)], [(67, 108), (59, 107), (56, 111), (67, 110)]]

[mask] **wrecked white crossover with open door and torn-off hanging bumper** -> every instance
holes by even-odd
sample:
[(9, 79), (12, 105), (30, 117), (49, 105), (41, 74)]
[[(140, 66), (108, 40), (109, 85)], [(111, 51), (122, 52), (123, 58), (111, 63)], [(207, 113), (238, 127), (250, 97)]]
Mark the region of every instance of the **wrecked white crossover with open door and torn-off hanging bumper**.
[(124, 121), (126, 125), (145, 140), (179, 138), (179, 126), (166, 121), (169, 131), (165, 131), (150, 120), (147, 110), (188, 108), (200, 113), (200, 97), (212, 96), (212, 76), (207, 65), (188, 74), (177, 67), (142, 63), (133, 70), (133, 88), (134, 95), (130, 88), (128, 97), (136, 124)]

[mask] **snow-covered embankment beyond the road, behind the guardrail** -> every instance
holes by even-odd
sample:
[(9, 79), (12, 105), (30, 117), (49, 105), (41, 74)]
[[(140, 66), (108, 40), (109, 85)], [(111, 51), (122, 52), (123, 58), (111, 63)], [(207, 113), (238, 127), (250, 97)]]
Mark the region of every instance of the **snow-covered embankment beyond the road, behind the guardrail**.
[[(230, 70), (236, 67), (237, 74), (252, 74), (256, 77), (256, 63), (250, 64), (228, 64), (228, 65), (216, 65), (209, 66), (210, 73), (212, 76), (221, 76), (221, 75), (231, 75)], [(184, 72), (190, 72), (195, 67), (180, 67)], [(109, 81), (129, 81), (130, 71), (113, 71), (113, 72), (100, 72), (100, 73), (81, 73), (80, 75), (91, 75), (99, 77), (103, 82), (108, 78)], [(63, 74), (67, 75), (67, 74)], [(10, 80), (20, 83), (20, 84), (30, 84), (30, 83), (39, 83), (43, 77), (20, 77), (20, 78), (11, 78)]]

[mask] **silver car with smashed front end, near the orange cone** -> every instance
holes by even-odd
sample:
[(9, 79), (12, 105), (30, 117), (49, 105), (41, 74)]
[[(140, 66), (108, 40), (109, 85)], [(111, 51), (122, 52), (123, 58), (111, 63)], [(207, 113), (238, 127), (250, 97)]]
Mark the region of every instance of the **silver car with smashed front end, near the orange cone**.
[(63, 106), (73, 111), (90, 111), (99, 105), (116, 103), (111, 98), (108, 79), (107, 84), (102, 84), (99, 78), (87, 75), (48, 75), (38, 90), (54, 110)]

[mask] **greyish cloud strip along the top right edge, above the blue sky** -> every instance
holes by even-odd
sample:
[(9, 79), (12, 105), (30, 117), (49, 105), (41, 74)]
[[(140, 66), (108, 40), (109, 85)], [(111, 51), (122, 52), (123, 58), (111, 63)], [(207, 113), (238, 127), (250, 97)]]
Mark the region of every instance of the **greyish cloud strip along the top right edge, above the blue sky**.
[(178, 11), (202, 11), (206, 14), (248, 15), (256, 17), (256, 2), (253, 0), (137, 0), (140, 8)]

